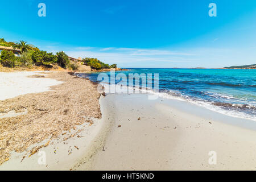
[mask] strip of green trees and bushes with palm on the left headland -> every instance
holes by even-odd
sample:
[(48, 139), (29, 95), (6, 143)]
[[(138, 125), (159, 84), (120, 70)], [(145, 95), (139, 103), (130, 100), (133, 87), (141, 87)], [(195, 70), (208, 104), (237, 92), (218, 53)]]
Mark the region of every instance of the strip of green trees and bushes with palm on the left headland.
[[(28, 44), (24, 40), (20, 40), (19, 42), (6, 42), (6, 40), (2, 38), (0, 39), (0, 46), (11, 48), (0, 51), (0, 67), (61, 67), (63, 69), (77, 71), (82, 67), (82, 64), (85, 64), (96, 70), (117, 68), (117, 64), (105, 64), (97, 58), (85, 57), (80, 63), (79, 61), (71, 61), (68, 55), (63, 51), (56, 52), (56, 55), (54, 55), (52, 52), (42, 51), (32, 44)], [(15, 56), (15, 51), (19, 51), (19, 55)]]

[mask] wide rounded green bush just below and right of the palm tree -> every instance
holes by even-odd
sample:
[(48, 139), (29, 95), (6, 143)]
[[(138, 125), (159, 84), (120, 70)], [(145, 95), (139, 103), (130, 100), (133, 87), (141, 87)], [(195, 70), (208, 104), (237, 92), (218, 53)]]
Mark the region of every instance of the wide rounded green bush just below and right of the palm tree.
[(36, 65), (51, 65), (56, 63), (57, 56), (52, 53), (47, 53), (46, 51), (35, 51), (32, 53), (32, 60)]

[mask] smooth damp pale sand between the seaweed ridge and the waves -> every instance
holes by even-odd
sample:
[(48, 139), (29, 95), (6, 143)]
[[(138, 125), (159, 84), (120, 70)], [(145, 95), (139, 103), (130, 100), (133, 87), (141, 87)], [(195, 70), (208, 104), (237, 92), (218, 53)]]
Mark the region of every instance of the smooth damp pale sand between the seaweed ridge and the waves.
[[(109, 95), (104, 99), (102, 106), (108, 108), (105, 117), (113, 121), (113, 127), (105, 151), (94, 156), (89, 169), (256, 169), (256, 132), (247, 129), (255, 128), (255, 122), (187, 102), (147, 100), (145, 94)], [(216, 165), (208, 163), (210, 151), (217, 154)]]

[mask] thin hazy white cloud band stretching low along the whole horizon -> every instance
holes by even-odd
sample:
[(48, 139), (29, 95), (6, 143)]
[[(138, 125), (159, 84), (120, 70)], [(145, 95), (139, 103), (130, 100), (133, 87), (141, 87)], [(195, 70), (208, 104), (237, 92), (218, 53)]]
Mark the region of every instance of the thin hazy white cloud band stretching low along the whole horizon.
[[(253, 49), (253, 48), (251, 48)], [(221, 68), (233, 64), (255, 64), (256, 52), (251, 49), (197, 47), (179, 51), (170, 49), (98, 48), (48, 46), (44, 50), (56, 53), (64, 51), (72, 57), (96, 57), (108, 63), (117, 63), (121, 68)], [(185, 51), (184, 51), (185, 50)], [(255, 52), (255, 53), (253, 53)], [(246, 55), (246, 56), (245, 56)], [(232, 64), (230, 64), (232, 62)]]

